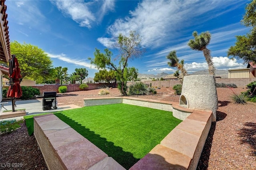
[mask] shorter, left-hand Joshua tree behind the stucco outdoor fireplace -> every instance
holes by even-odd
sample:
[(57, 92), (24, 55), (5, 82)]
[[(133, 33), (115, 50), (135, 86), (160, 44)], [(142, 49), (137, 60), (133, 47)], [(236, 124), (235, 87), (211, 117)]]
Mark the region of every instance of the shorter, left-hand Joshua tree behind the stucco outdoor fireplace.
[(176, 55), (176, 51), (173, 50), (171, 51), (167, 56), (167, 59), (169, 59), (170, 61), (168, 62), (168, 65), (170, 67), (177, 67), (178, 70), (180, 70), (182, 76), (187, 76), (188, 73), (186, 71), (186, 69), (184, 68), (184, 60), (181, 60), (181, 62), (179, 62), (179, 59)]

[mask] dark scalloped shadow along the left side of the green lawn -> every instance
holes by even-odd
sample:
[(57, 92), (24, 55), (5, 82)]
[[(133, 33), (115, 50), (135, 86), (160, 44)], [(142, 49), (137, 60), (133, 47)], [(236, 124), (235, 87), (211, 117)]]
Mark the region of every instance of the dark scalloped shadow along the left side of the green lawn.
[(125, 152), (120, 146), (115, 146), (113, 142), (107, 141), (106, 138), (100, 137), (99, 134), (95, 134), (95, 132), (90, 129), (78, 124), (74, 120), (68, 118), (62, 112), (54, 113), (60, 120), (66, 122), (69, 126), (71, 126), (76, 132), (84, 136), (98, 148), (100, 148), (103, 152), (105, 152), (108, 156), (112, 157), (116, 160), (120, 165), (124, 168), (129, 169), (136, 162), (138, 162), (138, 158), (134, 158), (133, 154), (130, 152)]

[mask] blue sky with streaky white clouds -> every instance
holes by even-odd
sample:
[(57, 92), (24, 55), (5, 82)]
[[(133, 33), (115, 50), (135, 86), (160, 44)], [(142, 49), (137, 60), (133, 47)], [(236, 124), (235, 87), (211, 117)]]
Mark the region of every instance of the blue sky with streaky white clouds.
[[(95, 48), (102, 52), (119, 33), (140, 34), (146, 53), (128, 66), (139, 73), (172, 74), (166, 55), (176, 50), (189, 73), (207, 69), (202, 52), (187, 43), (192, 32), (210, 31), (211, 50), (217, 69), (245, 68), (243, 60), (226, 57), (236, 35), (250, 28), (240, 22), (248, 0), (6, 0), (10, 41), (26, 42), (42, 48), (54, 67), (86, 68), (89, 77), (98, 70), (91, 66)], [(110, 49), (112, 50), (112, 49)]]

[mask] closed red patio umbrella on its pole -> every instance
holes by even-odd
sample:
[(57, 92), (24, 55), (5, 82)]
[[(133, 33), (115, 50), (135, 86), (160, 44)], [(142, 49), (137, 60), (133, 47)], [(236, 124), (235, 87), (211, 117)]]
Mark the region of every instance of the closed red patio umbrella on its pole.
[(12, 55), (12, 59), (9, 60), (9, 77), (10, 86), (7, 92), (7, 97), (12, 98), (12, 111), (14, 112), (15, 99), (22, 96), (22, 90), (20, 88), (20, 68), (19, 63), (15, 55)]

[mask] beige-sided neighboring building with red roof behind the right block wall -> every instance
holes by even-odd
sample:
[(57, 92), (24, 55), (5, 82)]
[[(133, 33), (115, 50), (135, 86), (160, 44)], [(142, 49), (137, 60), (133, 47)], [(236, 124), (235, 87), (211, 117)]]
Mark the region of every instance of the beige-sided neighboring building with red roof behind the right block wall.
[(256, 78), (256, 64), (249, 62), (247, 68), (228, 70), (228, 78)]

